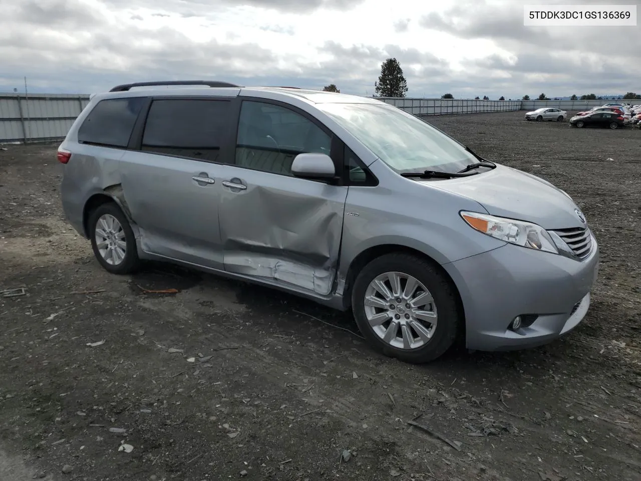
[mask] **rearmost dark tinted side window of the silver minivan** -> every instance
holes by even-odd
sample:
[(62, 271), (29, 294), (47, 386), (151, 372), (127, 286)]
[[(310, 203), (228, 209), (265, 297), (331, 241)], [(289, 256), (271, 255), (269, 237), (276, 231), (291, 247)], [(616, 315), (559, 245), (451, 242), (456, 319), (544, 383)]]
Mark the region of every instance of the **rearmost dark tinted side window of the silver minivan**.
[(126, 147), (144, 97), (99, 101), (78, 129), (78, 141), (110, 147)]

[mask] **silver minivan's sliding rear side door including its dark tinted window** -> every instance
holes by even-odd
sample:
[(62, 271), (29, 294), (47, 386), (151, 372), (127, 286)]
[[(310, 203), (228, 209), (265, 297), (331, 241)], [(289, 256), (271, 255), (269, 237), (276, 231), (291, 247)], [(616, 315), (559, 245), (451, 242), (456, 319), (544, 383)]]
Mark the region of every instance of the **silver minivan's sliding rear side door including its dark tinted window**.
[(142, 249), (224, 269), (218, 224), (222, 163), (231, 155), (231, 102), (155, 99), (140, 150), (127, 151), (122, 190)]

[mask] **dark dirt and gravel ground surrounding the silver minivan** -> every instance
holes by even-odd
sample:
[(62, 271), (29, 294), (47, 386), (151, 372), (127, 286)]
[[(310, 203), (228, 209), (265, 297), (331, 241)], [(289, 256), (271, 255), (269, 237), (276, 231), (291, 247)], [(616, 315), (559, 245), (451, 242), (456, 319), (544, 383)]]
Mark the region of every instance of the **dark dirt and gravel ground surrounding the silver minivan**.
[(57, 145), (4, 146), (0, 291), (26, 295), (0, 294), (0, 480), (641, 480), (641, 130), (522, 118), (429, 121), (578, 202), (592, 307), (548, 346), (426, 366), (294, 296), (107, 274), (63, 219)]

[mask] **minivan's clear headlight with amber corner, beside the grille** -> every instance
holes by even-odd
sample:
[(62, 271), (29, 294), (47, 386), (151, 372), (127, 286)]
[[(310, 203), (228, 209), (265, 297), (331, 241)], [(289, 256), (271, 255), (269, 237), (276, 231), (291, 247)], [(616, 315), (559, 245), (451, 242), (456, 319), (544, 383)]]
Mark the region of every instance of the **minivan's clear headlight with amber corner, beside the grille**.
[(479, 214), (478, 212), (461, 212), (461, 217), (471, 228), (501, 241), (537, 251), (558, 254), (558, 249), (554, 246), (549, 233), (537, 224)]

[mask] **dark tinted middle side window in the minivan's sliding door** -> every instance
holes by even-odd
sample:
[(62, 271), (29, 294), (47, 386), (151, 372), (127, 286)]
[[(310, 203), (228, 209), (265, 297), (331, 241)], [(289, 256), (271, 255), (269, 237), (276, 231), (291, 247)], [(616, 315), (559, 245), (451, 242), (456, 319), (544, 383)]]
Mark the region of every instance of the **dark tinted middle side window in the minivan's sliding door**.
[(229, 101), (154, 100), (142, 150), (216, 162), (228, 125)]

